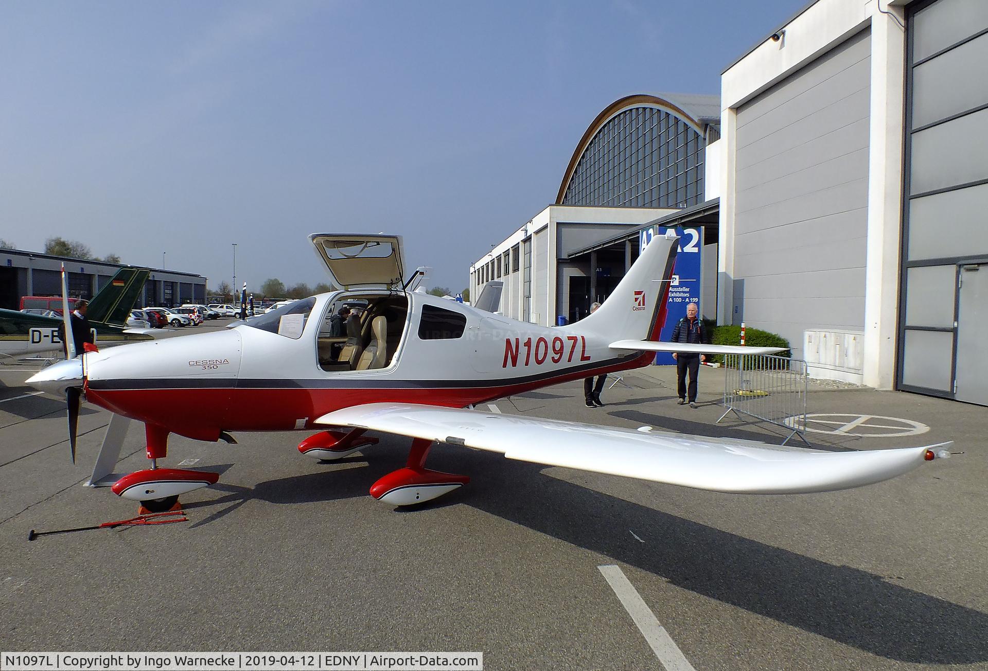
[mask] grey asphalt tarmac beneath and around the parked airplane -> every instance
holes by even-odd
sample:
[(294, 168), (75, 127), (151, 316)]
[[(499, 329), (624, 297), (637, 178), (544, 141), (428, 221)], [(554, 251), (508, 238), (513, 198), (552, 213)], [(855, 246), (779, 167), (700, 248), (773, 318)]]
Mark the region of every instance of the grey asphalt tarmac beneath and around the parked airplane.
[[(215, 487), (182, 497), (189, 522), (29, 543), (32, 529), (124, 519), (136, 504), (82, 486), (110, 415), (83, 406), (72, 464), (64, 406), (26, 395), (27, 368), (0, 367), (2, 650), (482, 651), (488, 670), (662, 669), (599, 568), (617, 565), (698, 670), (988, 669), (984, 407), (814, 386), (810, 413), (852, 418), (824, 422), (929, 427), (883, 438), (862, 421), (807, 434), (816, 448), (954, 440), (964, 454), (796, 496), (717, 494), (439, 445), (429, 466), (471, 482), (395, 509), (368, 489), (404, 465), (407, 439), (379, 435), (363, 453), (318, 463), (295, 450), (302, 432), (237, 434), (238, 445), (173, 436), (165, 465), (222, 471)], [(722, 371), (701, 370), (696, 409), (675, 404), (673, 376), (627, 373), (604, 408), (584, 407), (579, 382), (497, 406), (781, 442), (758, 422), (715, 424)], [(146, 465), (142, 427), (131, 424), (117, 470)]]

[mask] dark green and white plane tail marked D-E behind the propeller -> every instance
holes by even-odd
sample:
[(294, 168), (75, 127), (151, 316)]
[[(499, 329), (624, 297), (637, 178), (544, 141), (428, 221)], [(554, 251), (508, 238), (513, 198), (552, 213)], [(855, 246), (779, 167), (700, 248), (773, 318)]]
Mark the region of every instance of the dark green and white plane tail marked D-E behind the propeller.
[[(150, 271), (121, 268), (89, 301), (87, 316), (97, 334), (97, 344), (135, 343), (151, 340), (144, 329), (126, 327), (130, 309), (144, 292)], [(42, 317), (17, 310), (0, 309), (0, 355), (25, 357), (63, 349), (58, 329), (60, 317)]]

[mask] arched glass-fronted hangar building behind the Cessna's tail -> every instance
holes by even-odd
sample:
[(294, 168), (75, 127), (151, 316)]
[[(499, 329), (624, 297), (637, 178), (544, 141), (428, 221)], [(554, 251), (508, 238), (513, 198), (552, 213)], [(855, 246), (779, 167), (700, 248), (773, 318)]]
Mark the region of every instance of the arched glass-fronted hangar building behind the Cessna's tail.
[[(694, 94), (640, 94), (609, 105), (580, 138), (555, 204), (470, 267), (470, 295), (503, 281), (507, 316), (545, 325), (560, 316), (574, 321), (604, 300), (637, 258), (643, 224), (670, 217), (663, 225), (696, 225), (699, 208), (715, 243), (716, 206), (703, 204), (711, 167), (706, 147), (719, 137), (719, 114), (717, 96)], [(715, 261), (714, 252), (710, 316)]]

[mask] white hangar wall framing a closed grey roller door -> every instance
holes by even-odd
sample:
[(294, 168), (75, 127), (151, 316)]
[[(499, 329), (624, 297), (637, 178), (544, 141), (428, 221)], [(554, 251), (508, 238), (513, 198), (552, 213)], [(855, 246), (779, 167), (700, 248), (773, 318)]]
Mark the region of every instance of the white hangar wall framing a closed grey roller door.
[(723, 72), (718, 319), (892, 388), (905, 34), (881, 9), (820, 0)]

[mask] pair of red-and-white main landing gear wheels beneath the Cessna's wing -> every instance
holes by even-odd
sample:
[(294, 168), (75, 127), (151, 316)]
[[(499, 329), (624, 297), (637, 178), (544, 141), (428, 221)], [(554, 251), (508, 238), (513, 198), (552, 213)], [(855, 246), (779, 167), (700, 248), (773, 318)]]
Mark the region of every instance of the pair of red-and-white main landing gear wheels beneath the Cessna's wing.
[[(349, 432), (323, 431), (299, 443), (298, 452), (321, 461), (342, 459), (361, 448), (376, 445), (377, 439), (367, 438), (364, 433), (364, 429)], [(470, 481), (466, 475), (426, 468), (426, 457), (429, 456), (432, 445), (432, 441), (421, 438), (412, 441), (405, 467), (374, 482), (371, 485), (371, 496), (392, 506), (410, 506), (449, 494)]]

